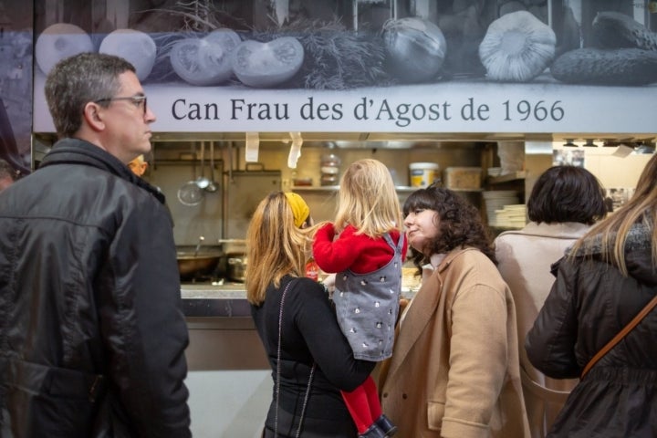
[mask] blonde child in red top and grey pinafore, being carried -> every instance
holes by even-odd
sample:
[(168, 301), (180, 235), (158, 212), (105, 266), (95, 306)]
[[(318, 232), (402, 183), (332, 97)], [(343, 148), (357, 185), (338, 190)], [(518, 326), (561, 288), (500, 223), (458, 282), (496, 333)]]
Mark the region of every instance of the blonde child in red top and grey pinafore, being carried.
[[(323, 271), (337, 273), (333, 301), (354, 357), (385, 360), (392, 354), (407, 249), (388, 168), (377, 160), (353, 162), (340, 180), (337, 210), (335, 222), (315, 235), (313, 256)], [(342, 392), (342, 397), (360, 437), (383, 438), (397, 432), (381, 412), (371, 377), (355, 391)]]

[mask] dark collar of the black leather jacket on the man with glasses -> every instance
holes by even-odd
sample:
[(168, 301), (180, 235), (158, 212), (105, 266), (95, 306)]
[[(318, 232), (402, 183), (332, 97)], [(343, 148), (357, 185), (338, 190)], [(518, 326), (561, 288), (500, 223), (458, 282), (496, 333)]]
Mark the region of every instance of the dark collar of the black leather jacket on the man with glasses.
[(130, 168), (120, 162), (118, 158), (108, 151), (100, 149), (89, 141), (79, 139), (63, 139), (57, 141), (52, 150), (47, 153), (39, 167), (58, 164), (82, 164), (95, 167), (101, 171), (110, 172), (122, 180), (130, 181), (151, 193), (160, 203), (166, 199), (160, 189), (147, 183), (135, 175)]

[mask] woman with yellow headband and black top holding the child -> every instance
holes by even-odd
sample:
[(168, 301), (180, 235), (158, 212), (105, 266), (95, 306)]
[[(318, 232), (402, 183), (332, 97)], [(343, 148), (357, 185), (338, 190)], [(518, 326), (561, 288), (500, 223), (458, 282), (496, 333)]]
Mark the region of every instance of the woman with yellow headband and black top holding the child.
[(265, 437), (355, 438), (340, 391), (374, 368), (355, 360), (328, 294), (304, 276), (314, 229), (297, 193), (271, 193), (247, 231), (246, 298), (272, 368)]

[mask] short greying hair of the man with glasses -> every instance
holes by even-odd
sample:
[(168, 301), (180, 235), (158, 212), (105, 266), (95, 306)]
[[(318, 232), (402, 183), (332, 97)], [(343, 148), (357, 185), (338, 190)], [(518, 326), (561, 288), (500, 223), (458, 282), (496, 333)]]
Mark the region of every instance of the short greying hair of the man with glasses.
[(60, 137), (72, 137), (82, 125), (85, 105), (108, 99), (120, 89), (119, 76), (135, 72), (122, 57), (80, 53), (57, 63), (46, 78), (46, 100)]

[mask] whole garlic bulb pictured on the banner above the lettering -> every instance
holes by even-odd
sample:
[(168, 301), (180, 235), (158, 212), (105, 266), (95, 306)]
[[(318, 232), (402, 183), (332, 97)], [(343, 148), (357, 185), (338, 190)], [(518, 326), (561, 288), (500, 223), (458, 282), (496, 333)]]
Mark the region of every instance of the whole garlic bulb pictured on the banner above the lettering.
[(486, 77), (498, 81), (527, 82), (549, 67), (557, 36), (550, 26), (527, 11), (497, 18), (479, 45)]

